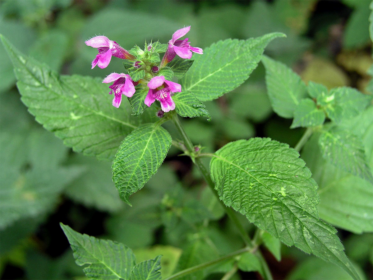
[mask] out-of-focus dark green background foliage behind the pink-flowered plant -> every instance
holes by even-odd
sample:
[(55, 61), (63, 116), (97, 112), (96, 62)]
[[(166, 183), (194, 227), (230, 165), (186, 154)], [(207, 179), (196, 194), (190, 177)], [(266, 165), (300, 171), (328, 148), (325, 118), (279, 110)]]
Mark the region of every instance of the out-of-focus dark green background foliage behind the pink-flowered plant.
[[(104, 78), (120, 72), (122, 62), (112, 59), (107, 68), (91, 70), (97, 50), (84, 41), (95, 35), (130, 49), (142, 46), (144, 40), (166, 43), (176, 29), (191, 25), (189, 41), (204, 48), (226, 38), (281, 31), (287, 38), (272, 42), (267, 55), (291, 66), (306, 82), (328, 88), (349, 85), (369, 94), (369, 4), (364, 0), (3, 0), (0, 32), (55, 71)], [(123, 242), (134, 249), (138, 261), (163, 254), (163, 277), (175, 268), (241, 248), (234, 227), (188, 158), (177, 157), (172, 148), (159, 172), (131, 197), (133, 207), (125, 205), (111, 180), (110, 162), (74, 153), (27, 112), (2, 45), (0, 62), (2, 279), (84, 279), (59, 222), (81, 233)], [(294, 146), (303, 130), (290, 130), (291, 120), (273, 113), (264, 74), (260, 64), (239, 88), (206, 102), (211, 122), (184, 119), (193, 143), (213, 152), (229, 141), (259, 136)], [(108, 106), (111, 98), (108, 94)], [(174, 131), (171, 124), (165, 126)], [(252, 231), (253, 226), (241, 218)], [(338, 233), (347, 255), (362, 275), (372, 279), (372, 234)], [(178, 262), (182, 250), (184, 260)], [(277, 262), (264, 249), (275, 279), (349, 278), (342, 269), (297, 249), (282, 248), (282, 253)], [(224, 272), (222, 265), (195, 277), (221, 278)], [(257, 277), (241, 271), (233, 279)]]

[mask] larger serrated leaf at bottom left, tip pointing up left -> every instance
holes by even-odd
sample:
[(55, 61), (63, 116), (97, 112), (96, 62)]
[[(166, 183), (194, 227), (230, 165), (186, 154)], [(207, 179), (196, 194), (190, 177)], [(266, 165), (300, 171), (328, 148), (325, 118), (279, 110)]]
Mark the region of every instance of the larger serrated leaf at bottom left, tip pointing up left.
[(129, 279), (135, 265), (135, 256), (130, 248), (112, 240), (98, 239), (80, 234), (68, 225), (60, 226), (69, 240), (76, 264), (85, 275), (93, 279)]

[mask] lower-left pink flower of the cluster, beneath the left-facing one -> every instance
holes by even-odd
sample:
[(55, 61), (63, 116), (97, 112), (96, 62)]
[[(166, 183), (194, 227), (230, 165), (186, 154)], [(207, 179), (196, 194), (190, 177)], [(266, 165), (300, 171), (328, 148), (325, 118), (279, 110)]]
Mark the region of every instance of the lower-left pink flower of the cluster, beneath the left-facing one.
[(120, 102), (122, 102), (122, 94), (127, 97), (132, 97), (135, 93), (135, 85), (138, 83), (134, 83), (131, 77), (128, 74), (117, 74), (112, 73), (107, 75), (106, 78), (102, 81), (103, 83), (112, 83), (109, 88), (111, 88), (109, 94), (113, 94), (114, 92), (114, 99), (113, 99), (113, 106), (119, 108)]

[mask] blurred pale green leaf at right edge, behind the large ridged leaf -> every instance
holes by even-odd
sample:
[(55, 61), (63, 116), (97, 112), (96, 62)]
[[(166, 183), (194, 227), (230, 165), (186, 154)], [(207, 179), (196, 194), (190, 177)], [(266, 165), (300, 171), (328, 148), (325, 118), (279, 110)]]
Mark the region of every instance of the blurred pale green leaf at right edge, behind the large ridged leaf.
[(320, 218), (354, 233), (373, 231), (372, 184), (326, 161), (320, 152), (319, 137), (320, 133), (315, 133), (307, 141), (302, 158), (319, 184)]

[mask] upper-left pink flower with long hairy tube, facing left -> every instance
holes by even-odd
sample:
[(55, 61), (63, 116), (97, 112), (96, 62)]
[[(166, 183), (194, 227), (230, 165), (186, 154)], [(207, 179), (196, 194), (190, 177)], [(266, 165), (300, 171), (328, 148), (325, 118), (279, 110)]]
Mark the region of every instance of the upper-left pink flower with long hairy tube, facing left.
[(119, 57), (121, 59), (133, 59), (129, 52), (123, 49), (116, 41), (111, 41), (105, 36), (96, 36), (91, 38), (88, 41), (85, 41), (85, 44), (90, 47), (98, 49), (98, 55), (92, 61), (92, 68), (98, 65), (100, 68), (106, 68), (109, 65), (112, 56)]

